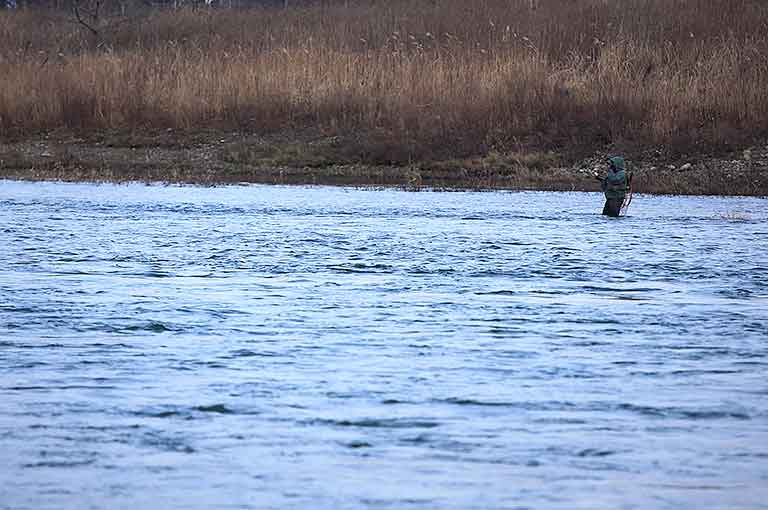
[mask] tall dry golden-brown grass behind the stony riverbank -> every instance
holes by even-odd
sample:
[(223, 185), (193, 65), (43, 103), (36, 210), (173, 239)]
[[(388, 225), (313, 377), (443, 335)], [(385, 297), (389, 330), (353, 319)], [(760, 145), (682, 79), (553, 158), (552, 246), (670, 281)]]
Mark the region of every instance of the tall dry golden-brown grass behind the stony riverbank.
[(768, 134), (761, 0), (324, 3), (111, 17), (98, 35), (0, 12), (0, 136), (312, 129), (344, 136), (343, 161), (410, 164)]

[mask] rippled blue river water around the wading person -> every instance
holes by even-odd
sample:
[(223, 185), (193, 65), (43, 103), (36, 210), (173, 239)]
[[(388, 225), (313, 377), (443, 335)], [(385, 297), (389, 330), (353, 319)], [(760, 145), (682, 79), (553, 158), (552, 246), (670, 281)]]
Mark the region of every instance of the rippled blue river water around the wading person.
[(0, 508), (765, 508), (765, 206), (0, 181)]

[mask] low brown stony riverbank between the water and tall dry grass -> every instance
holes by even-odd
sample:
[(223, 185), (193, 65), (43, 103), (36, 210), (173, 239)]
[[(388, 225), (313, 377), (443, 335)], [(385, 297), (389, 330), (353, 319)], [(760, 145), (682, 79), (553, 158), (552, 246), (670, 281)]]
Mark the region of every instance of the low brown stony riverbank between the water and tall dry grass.
[(53, 132), (0, 142), (0, 178), (597, 191), (594, 174), (605, 171), (604, 158), (622, 153), (638, 193), (768, 196), (768, 143), (718, 154), (491, 152), (405, 165), (351, 157), (350, 144), (339, 136), (296, 132)]

